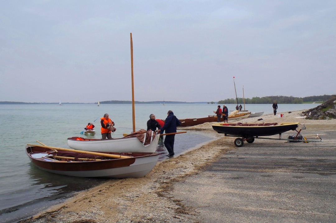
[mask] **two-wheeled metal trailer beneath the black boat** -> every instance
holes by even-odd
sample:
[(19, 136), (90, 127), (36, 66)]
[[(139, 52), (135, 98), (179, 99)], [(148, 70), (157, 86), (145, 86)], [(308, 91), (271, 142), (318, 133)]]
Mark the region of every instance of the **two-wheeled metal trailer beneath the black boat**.
[[(248, 142), (248, 143), (253, 143), (254, 139), (271, 139), (271, 140), (285, 140), (287, 142), (304, 142), (304, 143), (308, 143), (308, 142), (323, 142), (321, 137), (319, 136), (319, 134), (312, 134), (312, 135), (302, 135), (303, 139), (298, 139), (300, 135), (301, 130), (305, 130), (306, 127), (303, 125), (303, 127), (297, 131), (295, 129), (295, 131), (297, 132), (296, 135), (293, 135), (292, 139), (282, 139), (281, 138), (281, 133), (279, 133), (279, 138), (265, 138), (265, 137), (258, 137), (258, 136), (250, 136), (250, 137), (241, 137), (241, 138), (237, 138), (235, 139), (235, 146), (237, 147), (242, 147), (244, 145), (244, 142)], [(229, 134), (225, 134), (225, 136), (232, 136), (232, 137), (237, 137), (235, 135), (229, 135)]]

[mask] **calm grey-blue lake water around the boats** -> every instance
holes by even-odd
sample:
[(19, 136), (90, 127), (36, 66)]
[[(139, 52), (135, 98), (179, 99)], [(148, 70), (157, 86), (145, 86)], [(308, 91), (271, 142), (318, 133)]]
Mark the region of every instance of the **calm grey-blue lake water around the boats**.
[[(278, 113), (309, 109), (318, 104), (279, 104)], [(226, 105), (233, 110), (235, 105)], [(146, 129), (151, 113), (157, 119), (165, 119), (167, 111), (173, 110), (179, 119), (202, 118), (213, 115), (217, 104), (136, 104), (136, 130)], [(271, 104), (248, 104), (252, 112), (264, 111), (272, 114)], [(16, 222), (35, 214), (47, 206), (61, 202), (75, 192), (89, 189), (107, 179), (69, 177), (42, 171), (30, 163), (25, 154), (27, 143), (37, 144), (36, 140), (54, 147), (69, 148), (67, 138), (83, 136), (80, 132), (89, 122), (109, 113), (116, 123), (117, 131), (113, 137), (122, 137), (132, 131), (131, 104), (32, 104), (0, 105), (2, 130), (0, 140), (2, 159), (0, 159), (0, 222)], [(99, 119), (94, 123), (96, 135), (100, 138)], [(84, 136), (89, 138), (87, 136)], [(175, 137), (175, 154), (193, 148), (213, 139), (212, 134), (188, 131)], [(167, 151), (159, 141), (160, 160), (166, 158)]]

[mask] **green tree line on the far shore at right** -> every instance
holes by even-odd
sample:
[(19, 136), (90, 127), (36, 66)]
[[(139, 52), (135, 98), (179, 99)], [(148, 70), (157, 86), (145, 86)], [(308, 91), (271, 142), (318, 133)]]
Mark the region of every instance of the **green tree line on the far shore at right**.
[[(266, 97), (252, 97), (245, 98), (245, 104), (270, 104), (277, 102), (278, 104), (302, 104), (303, 102), (311, 101), (327, 101), (333, 95), (320, 95), (320, 96), (309, 96), (309, 97), (293, 97), (293, 96), (266, 96)], [(238, 104), (243, 104), (243, 98), (237, 98)], [(225, 100), (220, 100), (217, 104), (237, 104), (235, 98), (228, 98)]]

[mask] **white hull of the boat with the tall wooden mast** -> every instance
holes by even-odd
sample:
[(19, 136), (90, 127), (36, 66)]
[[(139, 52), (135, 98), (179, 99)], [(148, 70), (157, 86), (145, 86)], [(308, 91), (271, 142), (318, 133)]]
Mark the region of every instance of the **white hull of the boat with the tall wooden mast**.
[(158, 146), (160, 135), (155, 135), (151, 144), (143, 146), (136, 137), (114, 139), (85, 139), (76, 140), (79, 137), (68, 138), (68, 146), (72, 149), (94, 152), (118, 152), (118, 153), (154, 153)]

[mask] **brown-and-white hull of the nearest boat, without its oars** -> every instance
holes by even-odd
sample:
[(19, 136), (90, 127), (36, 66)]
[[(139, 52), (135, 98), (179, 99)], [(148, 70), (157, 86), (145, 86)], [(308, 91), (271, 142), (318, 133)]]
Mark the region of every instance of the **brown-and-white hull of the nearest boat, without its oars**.
[(159, 159), (158, 153), (133, 153), (129, 158), (85, 162), (57, 161), (47, 157), (34, 157), (34, 154), (40, 156), (45, 153), (48, 155), (46, 151), (48, 149), (41, 147), (26, 147), (26, 154), (38, 168), (51, 173), (78, 177), (138, 178), (149, 173)]

